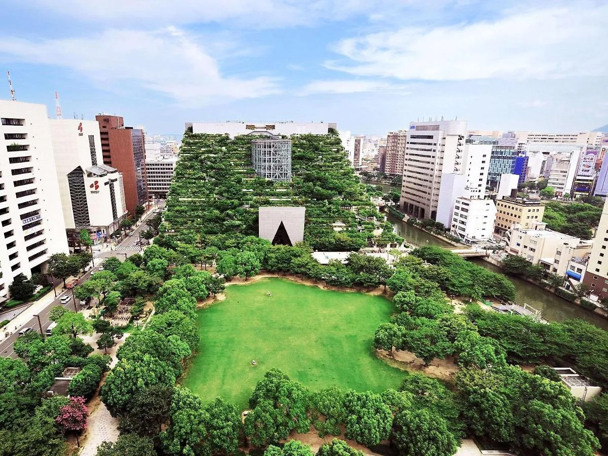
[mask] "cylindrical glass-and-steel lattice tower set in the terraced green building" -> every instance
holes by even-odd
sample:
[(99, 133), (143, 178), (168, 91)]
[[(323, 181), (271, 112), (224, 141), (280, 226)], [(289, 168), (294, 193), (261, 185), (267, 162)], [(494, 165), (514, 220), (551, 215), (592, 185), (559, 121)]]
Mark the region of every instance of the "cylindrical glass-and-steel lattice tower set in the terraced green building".
[(255, 175), (275, 182), (291, 181), (291, 139), (254, 139), (251, 163)]

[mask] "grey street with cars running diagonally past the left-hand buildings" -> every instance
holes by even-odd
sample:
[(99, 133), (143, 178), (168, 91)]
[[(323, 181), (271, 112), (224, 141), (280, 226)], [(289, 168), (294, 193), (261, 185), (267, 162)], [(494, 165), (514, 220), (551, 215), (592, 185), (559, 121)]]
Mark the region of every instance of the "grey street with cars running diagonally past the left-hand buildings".
[[(126, 258), (130, 255), (133, 255), (133, 254), (139, 252), (140, 247), (134, 246), (133, 244), (139, 240), (139, 232), (142, 229), (148, 229), (148, 226), (144, 223), (145, 219), (154, 215), (154, 210), (158, 210), (158, 209), (162, 209), (162, 206), (156, 206), (153, 208), (153, 210), (148, 212), (145, 215), (145, 217), (142, 219), (142, 222), (139, 224), (139, 226), (137, 226), (136, 229), (133, 230), (133, 235), (125, 238), (125, 240), (123, 240), (122, 243), (120, 243), (119, 245), (117, 245), (115, 247), (115, 250), (107, 250), (104, 252), (94, 252), (95, 268), (91, 268), (88, 272), (86, 272), (86, 274), (82, 275), (78, 279), (78, 282), (84, 283), (87, 280), (89, 280), (89, 278), (91, 278), (91, 274), (94, 274), (94, 272), (97, 272), (102, 261), (108, 257), (118, 257), (121, 260), (124, 260), (124, 258), (121, 258), (122, 255), (125, 255), (125, 258)], [(71, 296), (72, 292), (70, 290), (61, 291), (61, 294), (58, 294), (57, 298), (55, 298), (49, 305), (44, 307), (41, 311), (38, 311), (38, 317), (40, 317), (40, 324), (38, 324), (38, 317), (33, 315), (32, 308), (35, 307), (35, 304), (30, 306), (30, 308), (28, 308), (26, 311), (24, 311), (24, 313), (27, 313), (29, 311), (30, 313), (32, 313), (32, 317), (27, 321), (27, 323), (25, 323), (20, 328), (18, 328), (18, 330), (20, 331), (22, 328), (32, 328), (33, 331), (40, 332), (40, 326), (42, 326), (42, 332), (44, 333), (46, 328), (48, 328), (51, 323), (49, 320), (49, 311), (54, 306), (63, 305), (67, 309), (72, 310), (74, 308), (77, 308), (78, 310), (80, 310), (80, 302), (77, 299), (74, 299), (73, 296), (72, 296), (72, 299), (70, 299), (67, 303), (61, 304), (61, 297), (66, 296), (66, 295)], [(11, 324), (12, 323), (9, 323), (6, 326), (6, 328), (13, 328), (14, 326), (11, 326)], [(17, 339), (17, 337), (19, 337), (19, 331), (15, 331), (15, 333), (13, 333), (10, 337), (8, 337), (6, 340), (4, 340), (4, 341), (2, 341), (2, 343), (0, 343), (0, 356), (4, 356), (4, 357), (10, 356), (10, 358), (17, 358), (17, 356), (15, 354), (15, 350), (13, 350), (13, 344), (15, 344), (15, 340)]]

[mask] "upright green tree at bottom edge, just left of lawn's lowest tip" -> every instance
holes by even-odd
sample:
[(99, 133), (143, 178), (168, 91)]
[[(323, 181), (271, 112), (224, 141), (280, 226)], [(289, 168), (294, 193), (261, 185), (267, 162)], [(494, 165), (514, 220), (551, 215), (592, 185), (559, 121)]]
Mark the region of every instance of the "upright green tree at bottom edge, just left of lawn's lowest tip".
[(234, 454), (243, 432), (241, 414), (236, 406), (222, 398), (216, 398), (205, 407), (209, 414), (207, 444), (212, 454)]

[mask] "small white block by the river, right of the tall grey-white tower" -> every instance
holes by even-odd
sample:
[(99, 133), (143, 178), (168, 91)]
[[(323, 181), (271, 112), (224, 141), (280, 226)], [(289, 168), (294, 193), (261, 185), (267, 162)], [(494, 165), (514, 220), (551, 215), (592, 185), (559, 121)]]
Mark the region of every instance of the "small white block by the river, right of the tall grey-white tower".
[(466, 244), (492, 237), (496, 221), (496, 204), (491, 199), (456, 198), (451, 233)]

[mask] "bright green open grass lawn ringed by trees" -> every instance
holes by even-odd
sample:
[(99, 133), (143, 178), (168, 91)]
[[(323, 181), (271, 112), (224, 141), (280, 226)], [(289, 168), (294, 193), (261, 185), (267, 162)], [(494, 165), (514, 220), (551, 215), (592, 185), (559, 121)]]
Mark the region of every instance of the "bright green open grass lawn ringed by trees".
[(311, 390), (398, 387), (405, 374), (376, 358), (372, 346), (374, 331), (391, 310), (381, 296), (280, 278), (230, 285), (226, 300), (199, 311), (201, 344), (182, 384), (204, 401), (221, 396), (243, 409), (272, 367)]

